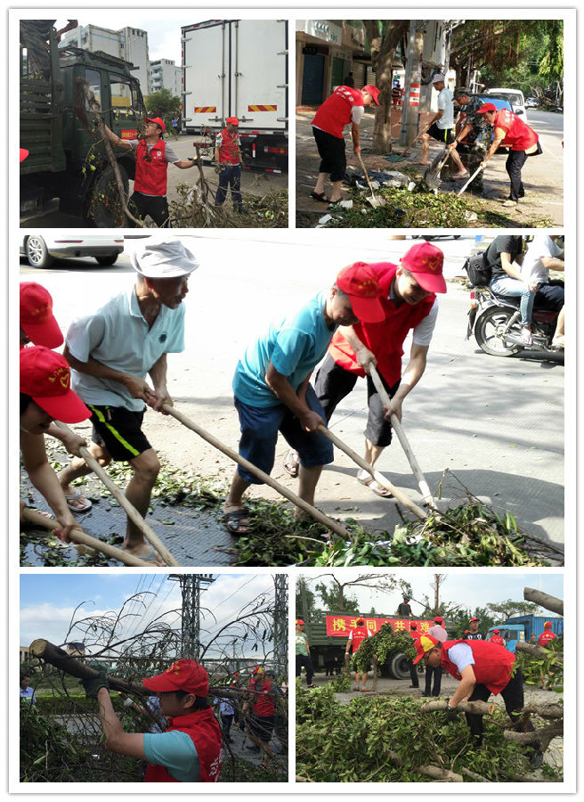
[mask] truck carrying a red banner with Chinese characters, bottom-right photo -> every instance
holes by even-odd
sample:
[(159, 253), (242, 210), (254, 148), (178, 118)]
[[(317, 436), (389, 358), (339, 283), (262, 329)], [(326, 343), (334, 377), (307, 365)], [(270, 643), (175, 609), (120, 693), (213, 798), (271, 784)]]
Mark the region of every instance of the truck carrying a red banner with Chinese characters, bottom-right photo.
[[(304, 634), (311, 650), (312, 666), (315, 672), (338, 674), (345, 662), (345, 647), (352, 626), (358, 615), (344, 612), (320, 612), (312, 618), (302, 617)], [(426, 618), (400, 618), (398, 616), (361, 616), (366, 626), (375, 634), (382, 624), (390, 623), (394, 630), (408, 632), (410, 624), (416, 623), (418, 633), (427, 632), (434, 621)], [(331, 634), (334, 633), (334, 634)], [(383, 666), (379, 667), (381, 676), (390, 679), (410, 679), (410, 668), (404, 654), (389, 654)]]

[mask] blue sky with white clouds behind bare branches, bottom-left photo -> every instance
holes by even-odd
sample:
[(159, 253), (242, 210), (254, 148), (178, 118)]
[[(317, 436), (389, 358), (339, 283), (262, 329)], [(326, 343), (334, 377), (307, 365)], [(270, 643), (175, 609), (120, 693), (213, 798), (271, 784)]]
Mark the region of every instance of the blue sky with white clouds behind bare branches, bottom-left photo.
[[(201, 593), (201, 642), (206, 643), (215, 631), (236, 618), (249, 601), (260, 593), (273, 598), (271, 574), (214, 574), (215, 582)], [(118, 627), (121, 636), (141, 632), (154, 618), (165, 616), (165, 621), (180, 628), (178, 610), (181, 608), (181, 590), (177, 581), (169, 581), (166, 574), (129, 574), (122, 571), (108, 573), (20, 575), (20, 645), (28, 646), (37, 638), (61, 645), (68, 641), (83, 641), (83, 633), (73, 629), (68, 636), (69, 622), (77, 605), (75, 620), (89, 616), (103, 616), (121, 609), (134, 593), (142, 593), (142, 603), (136, 601), (126, 607), (130, 616)], [(144, 593), (148, 591), (149, 593)], [(156, 593), (156, 596), (152, 595)], [(150, 603), (151, 602), (151, 603)], [(214, 618), (215, 616), (215, 618)], [(209, 655), (210, 656), (210, 655)]]

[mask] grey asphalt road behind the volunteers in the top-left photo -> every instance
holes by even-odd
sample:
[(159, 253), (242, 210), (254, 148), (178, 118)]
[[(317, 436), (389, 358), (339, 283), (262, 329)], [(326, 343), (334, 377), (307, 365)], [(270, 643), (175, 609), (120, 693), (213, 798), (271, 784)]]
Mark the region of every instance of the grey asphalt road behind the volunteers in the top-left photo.
[[(173, 148), (179, 159), (191, 159), (196, 156), (193, 143), (199, 143), (200, 136), (179, 136), (178, 139), (169, 137), (166, 140)], [(203, 174), (207, 184), (213, 192), (216, 192), (218, 185), (218, 176), (215, 173), (214, 167), (204, 167)], [(168, 165), (168, 184), (166, 197), (168, 202), (178, 200), (180, 195), (177, 192), (179, 184), (195, 184), (199, 178), (199, 169), (197, 167), (187, 170), (180, 170), (173, 167), (172, 164)], [(246, 169), (241, 171), (241, 192), (245, 195), (264, 195), (266, 192), (278, 191), (288, 187), (288, 173), (256, 173), (250, 172)], [(129, 193), (132, 194), (134, 189), (134, 181), (129, 183)], [(231, 192), (228, 192), (227, 204), (231, 207)], [(80, 217), (72, 215), (65, 215), (59, 211), (59, 201), (51, 201), (46, 209), (32, 217), (27, 217), (20, 222), (21, 228), (34, 228), (42, 226), (43, 228), (80, 228), (86, 227)]]

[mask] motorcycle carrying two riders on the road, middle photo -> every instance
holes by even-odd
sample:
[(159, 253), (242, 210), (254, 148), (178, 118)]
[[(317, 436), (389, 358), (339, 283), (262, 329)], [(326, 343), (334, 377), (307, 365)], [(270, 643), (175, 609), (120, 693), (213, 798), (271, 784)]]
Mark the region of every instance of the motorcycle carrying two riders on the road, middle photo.
[(552, 346), (558, 311), (538, 307), (536, 300), (531, 317), (533, 345), (526, 345), (521, 339), (521, 299), (502, 298), (489, 287), (474, 287), (470, 299), (466, 340), (474, 332), (474, 339), (485, 354), (514, 356), (523, 350), (558, 353)]

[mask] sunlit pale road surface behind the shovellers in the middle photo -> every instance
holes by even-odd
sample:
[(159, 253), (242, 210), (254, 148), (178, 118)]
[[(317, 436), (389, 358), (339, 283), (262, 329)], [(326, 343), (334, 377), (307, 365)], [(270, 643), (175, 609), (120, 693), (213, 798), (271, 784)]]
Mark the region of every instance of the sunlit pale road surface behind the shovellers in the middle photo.
[[(191, 277), (185, 300), (187, 348), (168, 359), (168, 386), (177, 408), (231, 447), (239, 439), (231, 376), (246, 343), (264, 331), (272, 316), (302, 306), (330, 286), (340, 267), (357, 259), (396, 260), (411, 246), (411, 241), (388, 241), (382, 232), (369, 233), (366, 244), (360, 243), (360, 236), (331, 237), (326, 232), (280, 232), (278, 242), (269, 241), (267, 234), (254, 237), (217, 232), (192, 238), (201, 266)], [(472, 242), (439, 244), (446, 255), (446, 274), (459, 274)], [(21, 266), (24, 280), (37, 280), (53, 294), (63, 331), (74, 316), (94, 310), (126, 287), (131, 273), (126, 257), (106, 269), (96, 269), (92, 260), (84, 259), (56, 263), (50, 270)], [(450, 282), (441, 298), (426, 374), (404, 405), (402, 422), (413, 451), (434, 493), (448, 469), (441, 503), (463, 499), (468, 488), (496, 510), (512, 512), (533, 535), (563, 544), (563, 359), (484, 354), (474, 340), (465, 340), (468, 307), (468, 292)], [(409, 348), (406, 341), (406, 354)], [(358, 452), (365, 410), (365, 383), (359, 381), (330, 423)], [(176, 421), (148, 411), (145, 429), (159, 453), (177, 467), (225, 485), (231, 480), (229, 459)], [(272, 476), (296, 490), (296, 480), (281, 467), (286, 451), (280, 439)], [(385, 450), (378, 467), (419, 501), (416, 481), (397, 442)], [(355, 473), (348, 457), (337, 453), (323, 471), (318, 503), (329, 514), (392, 532), (400, 523), (394, 504), (359, 484)], [(253, 492), (277, 497), (266, 487)]]

